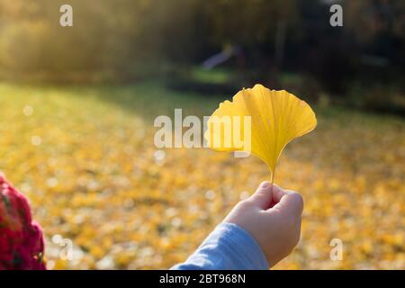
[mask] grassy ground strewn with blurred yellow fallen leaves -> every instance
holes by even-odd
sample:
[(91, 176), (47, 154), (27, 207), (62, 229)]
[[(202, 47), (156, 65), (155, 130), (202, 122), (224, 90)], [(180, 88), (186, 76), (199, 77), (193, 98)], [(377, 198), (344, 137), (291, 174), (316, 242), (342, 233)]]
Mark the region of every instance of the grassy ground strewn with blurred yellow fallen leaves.
[[(192, 253), (268, 169), (206, 148), (159, 150), (153, 121), (174, 108), (210, 115), (222, 100), (158, 83), (1, 84), (0, 170), (31, 200), (49, 268), (168, 268)], [(275, 175), (305, 200), (302, 240), (276, 268), (405, 268), (405, 122), (314, 110), (317, 129), (286, 148)]]

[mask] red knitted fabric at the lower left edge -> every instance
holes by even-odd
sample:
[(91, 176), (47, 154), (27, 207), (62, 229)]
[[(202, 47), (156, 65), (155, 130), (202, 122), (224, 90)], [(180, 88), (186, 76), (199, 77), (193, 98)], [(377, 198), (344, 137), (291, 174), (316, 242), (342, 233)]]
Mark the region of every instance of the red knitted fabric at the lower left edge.
[(0, 270), (46, 269), (43, 248), (27, 199), (0, 174)]

